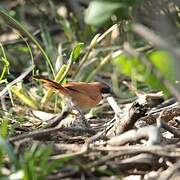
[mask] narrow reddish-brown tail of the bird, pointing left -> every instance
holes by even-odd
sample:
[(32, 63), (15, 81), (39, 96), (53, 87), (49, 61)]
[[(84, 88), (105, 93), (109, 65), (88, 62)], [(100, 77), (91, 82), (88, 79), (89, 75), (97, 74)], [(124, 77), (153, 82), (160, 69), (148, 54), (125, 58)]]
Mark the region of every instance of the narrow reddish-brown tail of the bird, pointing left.
[(44, 76), (33, 76), (34, 79), (38, 79), (44, 83), (45, 88), (52, 89), (54, 91), (59, 91), (62, 94), (67, 94), (67, 89), (64, 88), (61, 84), (52, 81), (50, 79), (47, 79)]

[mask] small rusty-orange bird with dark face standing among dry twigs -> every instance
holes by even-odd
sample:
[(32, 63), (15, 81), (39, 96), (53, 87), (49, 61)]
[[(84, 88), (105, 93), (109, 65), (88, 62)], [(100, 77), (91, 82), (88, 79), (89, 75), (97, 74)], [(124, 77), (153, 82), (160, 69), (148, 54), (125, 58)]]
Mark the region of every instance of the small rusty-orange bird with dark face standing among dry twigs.
[(84, 116), (82, 111), (96, 107), (103, 99), (103, 94), (112, 93), (111, 88), (102, 82), (59, 84), (41, 75), (36, 75), (33, 78), (42, 81), (45, 88), (58, 92), (81, 116)]

